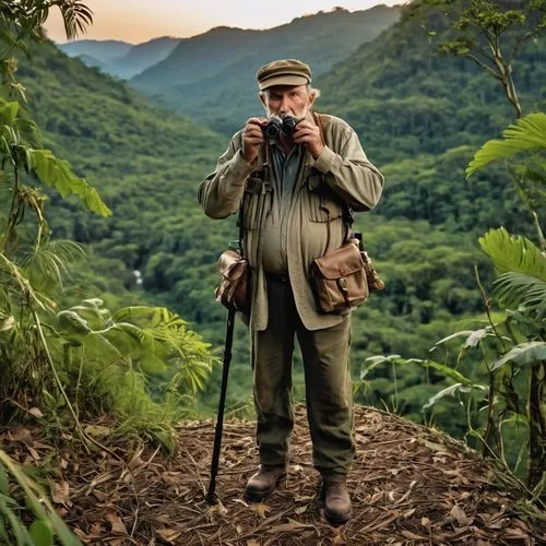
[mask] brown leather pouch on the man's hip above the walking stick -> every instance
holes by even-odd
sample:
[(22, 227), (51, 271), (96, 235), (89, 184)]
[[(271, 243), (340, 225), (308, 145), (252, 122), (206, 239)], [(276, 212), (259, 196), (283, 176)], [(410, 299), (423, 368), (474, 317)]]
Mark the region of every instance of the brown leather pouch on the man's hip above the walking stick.
[(250, 310), (248, 260), (237, 250), (225, 250), (218, 259), (219, 286), (216, 288), (216, 301), (228, 309), (248, 314)]

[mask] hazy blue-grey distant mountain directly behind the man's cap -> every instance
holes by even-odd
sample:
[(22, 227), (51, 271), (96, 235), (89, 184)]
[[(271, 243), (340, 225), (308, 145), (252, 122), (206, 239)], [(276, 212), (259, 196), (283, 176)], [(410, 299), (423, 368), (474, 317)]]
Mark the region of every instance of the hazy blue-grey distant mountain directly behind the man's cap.
[(249, 111), (260, 111), (254, 74), (262, 64), (301, 58), (314, 74), (323, 73), (397, 16), (397, 8), (385, 5), (355, 12), (337, 8), (266, 31), (213, 28), (181, 40), (163, 62), (134, 76), (131, 84), (154, 100), (232, 134)]

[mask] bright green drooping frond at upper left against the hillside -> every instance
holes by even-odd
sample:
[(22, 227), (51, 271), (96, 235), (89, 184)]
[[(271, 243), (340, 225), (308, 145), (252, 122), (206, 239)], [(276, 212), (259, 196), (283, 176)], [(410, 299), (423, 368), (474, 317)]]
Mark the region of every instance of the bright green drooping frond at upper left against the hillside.
[(54, 187), (62, 198), (74, 193), (87, 210), (100, 216), (111, 215), (96, 189), (76, 177), (67, 162), (55, 157), (50, 150), (28, 150), (28, 154), (32, 168), (41, 183)]

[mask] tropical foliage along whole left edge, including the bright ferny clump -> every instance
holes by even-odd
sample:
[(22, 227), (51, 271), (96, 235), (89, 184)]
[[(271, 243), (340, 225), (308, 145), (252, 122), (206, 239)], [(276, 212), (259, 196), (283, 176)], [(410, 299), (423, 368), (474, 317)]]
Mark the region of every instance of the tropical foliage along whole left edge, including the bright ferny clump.
[[(100, 217), (111, 211), (67, 162), (44, 149), (24, 109), (25, 90), (15, 80), (14, 51), (28, 54), (28, 41), (41, 40), (40, 25), (55, 7), (69, 38), (92, 21), (78, 0), (0, 5), (0, 72), (7, 84), (0, 88), (0, 191), (9, 198), (0, 210), (0, 424), (41, 407), (44, 432), (69, 426), (85, 446), (103, 447), (81, 418), (107, 412), (114, 432), (135, 432), (173, 449), (173, 425), (191, 412), (210, 371), (207, 346), (164, 308), (123, 308), (111, 314), (95, 299), (59, 310), (69, 266), (84, 252), (72, 241), (51, 238), (48, 195), (75, 195)], [(11, 497), (9, 474), (36, 517), (29, 529)], [(80, 544), (39, 487), (0, 450), (0, 542), (49, 545), (54, 539)]]

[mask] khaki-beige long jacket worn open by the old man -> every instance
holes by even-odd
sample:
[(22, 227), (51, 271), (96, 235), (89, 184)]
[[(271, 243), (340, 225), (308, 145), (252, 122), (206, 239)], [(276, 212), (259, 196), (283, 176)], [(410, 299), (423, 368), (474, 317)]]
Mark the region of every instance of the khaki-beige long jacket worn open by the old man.
[[(308, 330), (339, 324), (341, 314), (348, 312), (324, 314), (318, 309), (310, 284), (312, 261), (345, 241), (347, 205), (357, 212), (368, 211), (376, 206), (383, 188), (382, 175), (366, 157), (348, 123), (333, 116), (320, 115), (320, 119), (324, 151), (317, 159), (306, 152), (294, 187), (285, 238), (294, 299)], [(198, 199), (212, 218), (227, 217), (242, 205), (244, 250), (252, 269), (250, 328), (265, 330), (268, 292), (260, 259), (261, 235), (262, 218), (272, 206), (271, 177), (275, 174), (268, 152), (250, 166), (242, 158), (241, 147), (239, 131), (218, 158), (216, 170), (201, 182)]]

